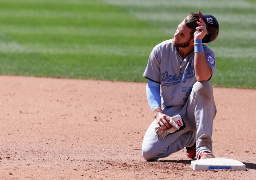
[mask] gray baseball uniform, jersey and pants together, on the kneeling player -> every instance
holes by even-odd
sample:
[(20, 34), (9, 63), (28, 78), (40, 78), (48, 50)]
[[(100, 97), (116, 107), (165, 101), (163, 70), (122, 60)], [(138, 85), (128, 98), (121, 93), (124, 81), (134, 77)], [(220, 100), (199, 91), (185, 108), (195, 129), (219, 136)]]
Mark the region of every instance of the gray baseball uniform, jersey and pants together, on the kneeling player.
[[(167, 157), (185, 146), (191, 147), (195, 141), (197, 158), (201, 152), (212, 150), (211, 134), (216, 115), (213, 89), (207, 81), (197, 82), (194, 51), (182, 59), (171, 41), (163, 41), (154, 47), (143, 76), (161, 83), (162, 111), (168, 116), (180, 114), (184, 129), (158, 139), (155, 133), (157, 122), (154, 120), (142, 144), (142, 154), (147, 161)], [(203, 44), (203, 49), (213, 75), (216, 68), (214, 52), (206, 44)]]

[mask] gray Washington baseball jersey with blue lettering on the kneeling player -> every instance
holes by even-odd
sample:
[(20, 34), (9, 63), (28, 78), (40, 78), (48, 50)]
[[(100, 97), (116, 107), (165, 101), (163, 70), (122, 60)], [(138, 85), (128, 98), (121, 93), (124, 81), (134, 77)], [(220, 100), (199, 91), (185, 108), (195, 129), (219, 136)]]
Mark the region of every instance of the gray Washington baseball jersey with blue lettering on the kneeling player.
[[(182, 59), (171, 43), (172, 39), (163, 41), (152, 50), (143, 77), (161, 83), (162, 105), (184, 105), (197, 79), (194, 72), (194, 51)], [(206, 45), (203, 49), (211, 67), (215, 72), (215, 54)]]

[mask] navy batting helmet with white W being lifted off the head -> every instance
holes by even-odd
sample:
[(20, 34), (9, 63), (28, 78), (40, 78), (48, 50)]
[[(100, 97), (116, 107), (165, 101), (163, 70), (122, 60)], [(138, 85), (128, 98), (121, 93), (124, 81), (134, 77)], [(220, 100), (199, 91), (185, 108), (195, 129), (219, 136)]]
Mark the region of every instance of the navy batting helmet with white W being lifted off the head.
[(208, 33), (202, 39), (202, 43), (213, 42), (219, 34), (219, 23), (217, 19), (212, 15), (202, 15), (199, 11), (199, 18), (201, 18), (205, 24)]

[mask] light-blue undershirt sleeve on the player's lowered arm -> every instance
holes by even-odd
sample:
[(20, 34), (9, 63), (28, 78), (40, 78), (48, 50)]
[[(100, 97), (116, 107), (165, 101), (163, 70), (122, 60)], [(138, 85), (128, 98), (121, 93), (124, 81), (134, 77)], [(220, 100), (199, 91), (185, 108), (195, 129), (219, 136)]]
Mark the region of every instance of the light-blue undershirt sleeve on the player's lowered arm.
[(146, 87), (147, 101), (153, 111), (155, 108), (161, 108), (160, 83), (148, 80)]

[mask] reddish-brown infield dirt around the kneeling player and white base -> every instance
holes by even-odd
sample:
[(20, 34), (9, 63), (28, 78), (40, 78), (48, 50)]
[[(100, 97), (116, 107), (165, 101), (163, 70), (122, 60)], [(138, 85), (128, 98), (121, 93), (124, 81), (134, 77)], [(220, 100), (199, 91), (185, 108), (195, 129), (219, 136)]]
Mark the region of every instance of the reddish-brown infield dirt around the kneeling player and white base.
[[(146, 162), (146, 83), (0, 76), (0, 179), (255, 179), (256, 90), (213, 87), (213, 154), (246, 171), (193, 171), (185, 149)], [(195, 160), (195, 159), (194, 159)]]

